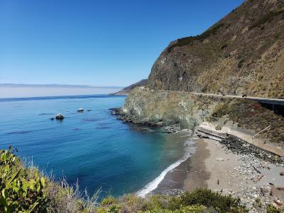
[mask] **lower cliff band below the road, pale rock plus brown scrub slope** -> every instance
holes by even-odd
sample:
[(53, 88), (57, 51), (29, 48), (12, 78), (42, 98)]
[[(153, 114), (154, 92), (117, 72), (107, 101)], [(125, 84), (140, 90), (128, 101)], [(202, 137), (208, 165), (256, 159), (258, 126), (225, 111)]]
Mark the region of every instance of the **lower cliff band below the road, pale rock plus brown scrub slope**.
[(138, 124), (192, 129), (203, 121), (233, 129), (246, 129), (253, 135), (270, 125), (258, 137), (284, 147), (284, 119), (249, 99), (208, 97), (189, 92), (133, 89), (126, 98), (121, 119)]

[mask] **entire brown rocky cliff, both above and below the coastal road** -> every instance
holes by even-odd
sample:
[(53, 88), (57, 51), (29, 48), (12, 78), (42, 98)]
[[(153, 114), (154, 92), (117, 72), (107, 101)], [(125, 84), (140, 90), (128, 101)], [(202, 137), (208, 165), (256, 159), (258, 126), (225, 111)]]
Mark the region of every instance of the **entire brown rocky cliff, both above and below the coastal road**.
[(256, 102), (189, 92), (284, 97), (284, 1), (247, 0), (201, 35), (175, 40), (133, 89), (120, 118), (192, 129), (202, 121), (258, 133), (284, 147), (284, 119)]

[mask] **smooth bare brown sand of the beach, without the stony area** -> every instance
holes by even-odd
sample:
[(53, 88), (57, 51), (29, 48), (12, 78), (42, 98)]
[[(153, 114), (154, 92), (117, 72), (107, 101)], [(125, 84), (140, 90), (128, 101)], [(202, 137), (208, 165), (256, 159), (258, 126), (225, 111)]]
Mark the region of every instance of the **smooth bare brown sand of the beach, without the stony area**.
[(212, 190), (231, 189), (237, 190), (239, 184), (244, 182), (244, 175), (232, 175), (234, 168), (242, 163), (237, 155), (224, 151), (222, 144), (210, 139), (197, 141), (197, 152), (190, 158), (190, 173), (185, 180), (186, 191), (195, 190), (198, 187), (207, 187)]

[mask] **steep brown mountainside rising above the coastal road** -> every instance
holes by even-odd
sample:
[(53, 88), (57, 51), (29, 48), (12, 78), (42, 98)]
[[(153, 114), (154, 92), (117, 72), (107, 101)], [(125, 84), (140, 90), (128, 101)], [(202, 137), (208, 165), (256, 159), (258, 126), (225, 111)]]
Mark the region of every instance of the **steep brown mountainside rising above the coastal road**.
[(245, 1), (202, 35), (173, 41), (147, 86), (284, 97), (284, 1)]

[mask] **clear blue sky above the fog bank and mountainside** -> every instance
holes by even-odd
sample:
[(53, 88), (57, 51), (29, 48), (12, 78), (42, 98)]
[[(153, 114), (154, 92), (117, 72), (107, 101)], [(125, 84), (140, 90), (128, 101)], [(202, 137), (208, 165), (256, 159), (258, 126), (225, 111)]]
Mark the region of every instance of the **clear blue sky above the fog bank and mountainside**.
[(0, 0), (0, 83), (127, 86), (242, 0)]

